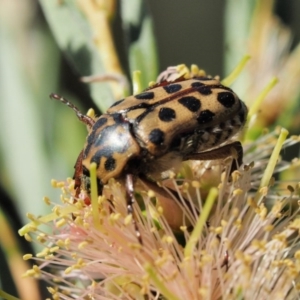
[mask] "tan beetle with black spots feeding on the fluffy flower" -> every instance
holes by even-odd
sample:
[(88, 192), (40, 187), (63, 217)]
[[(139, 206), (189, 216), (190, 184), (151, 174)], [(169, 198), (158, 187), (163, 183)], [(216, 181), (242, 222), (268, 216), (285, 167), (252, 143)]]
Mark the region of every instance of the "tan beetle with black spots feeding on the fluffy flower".
[[(76, 196), (93, 162), (100, 194), (110, 178), (126, 179), (128, 214), (133, 214), (136, 177), (157, 179), (182, 161), (223, 159), (234, 152), (231, 171), (242, 164), (241, 143), (227, 142), (244, 126), (248, 110), (215, 78), (162, 80), (115, 102), (96, 119), (57, 94), (50, 97), (72, 108), (88, 126), (85, 146), (75, 164)], [(135, 229), (141, 242), (136, 224)]]

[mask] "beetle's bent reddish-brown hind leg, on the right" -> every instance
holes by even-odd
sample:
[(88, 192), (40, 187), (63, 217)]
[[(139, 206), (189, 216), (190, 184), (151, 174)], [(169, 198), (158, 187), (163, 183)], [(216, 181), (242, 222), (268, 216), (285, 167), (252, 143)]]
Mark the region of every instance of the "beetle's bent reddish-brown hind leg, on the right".
[(235, 158), (230, 171), (230, 173), (232, 173), (243, 163), (243, 147), (240, 142), (233, 142), (206, 152), (191, 153), (185, 157), (185, 160), (214, 160), (224, 159), (230, 156)]

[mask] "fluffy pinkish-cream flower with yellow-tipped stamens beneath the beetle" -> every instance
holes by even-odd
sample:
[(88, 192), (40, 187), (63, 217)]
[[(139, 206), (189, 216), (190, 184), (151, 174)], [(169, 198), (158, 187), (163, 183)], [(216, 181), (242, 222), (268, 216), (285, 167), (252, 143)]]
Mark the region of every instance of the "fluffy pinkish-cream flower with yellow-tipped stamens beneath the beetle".
[(232, 159), (189, 161), (159, 185), (140, 180), (134, 218), (122, 181), (98, 197), (91, 170), (91, 199), (53, 182), (62, 203), (45, 199), (52, 213), (20, 230), (43, 246), (24, 256), (35, 261), (24, 276), (47, 281), (53, 299), (297, 299), (299, 183), (272, 177), (299, 168), (279, 156), (299, 142), (287, 134), (245, 143), (232, 175)]

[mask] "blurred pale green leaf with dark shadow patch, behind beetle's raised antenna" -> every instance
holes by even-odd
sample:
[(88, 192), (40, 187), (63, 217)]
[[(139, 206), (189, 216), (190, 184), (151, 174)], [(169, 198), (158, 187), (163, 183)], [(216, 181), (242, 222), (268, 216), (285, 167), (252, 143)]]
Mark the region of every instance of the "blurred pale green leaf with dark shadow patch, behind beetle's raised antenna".
[[(60, 49), (78, 72), (78, 77), (105, 74), (90, 23), (77, 1), (40, 0), (40, 4)], [(90, 93), (101, 111), (115, 100), (108, 83), (91, 84)]]

